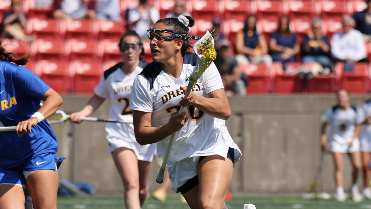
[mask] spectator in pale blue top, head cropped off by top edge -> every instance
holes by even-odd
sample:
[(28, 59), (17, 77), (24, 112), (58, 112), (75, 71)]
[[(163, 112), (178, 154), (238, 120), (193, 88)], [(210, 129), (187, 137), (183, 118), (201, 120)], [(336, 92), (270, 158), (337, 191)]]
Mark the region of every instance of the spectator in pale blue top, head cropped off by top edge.
[(119, 0), (96, 0), (96, 19), (121, 21)]

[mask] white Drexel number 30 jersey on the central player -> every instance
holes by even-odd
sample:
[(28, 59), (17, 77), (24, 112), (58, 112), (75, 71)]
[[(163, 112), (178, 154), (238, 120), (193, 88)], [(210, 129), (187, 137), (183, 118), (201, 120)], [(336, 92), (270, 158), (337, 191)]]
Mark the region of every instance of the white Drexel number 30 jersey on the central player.
[[(162, 71), (158, 62), (151, 62), (134, 80), (130, 109), (152, 113), (152, 127), (165, 125), (171, 113), (180, 109), (179, 101), (184, 96), (180, 87), (188, 85), (188, 78), (196, 65), (196, 55), (185, 54), (181, 75), (175, 79)], [(223, 88), (220, 74), (212, 63), (193, 87), (192, 93), (207, 97), (208, 93)], [(185, 112), (186, 123), (175, 136), (170, 161), (214, 154), (226, 157), (229, 147), (235, 149), (235, 162), (239, 160), (241, 151), (229, 135), (224, 120), (194, 106), (186, 107)], [(161, 157), (165, 155), (170, 137), (157, 142), (157, 153)]]

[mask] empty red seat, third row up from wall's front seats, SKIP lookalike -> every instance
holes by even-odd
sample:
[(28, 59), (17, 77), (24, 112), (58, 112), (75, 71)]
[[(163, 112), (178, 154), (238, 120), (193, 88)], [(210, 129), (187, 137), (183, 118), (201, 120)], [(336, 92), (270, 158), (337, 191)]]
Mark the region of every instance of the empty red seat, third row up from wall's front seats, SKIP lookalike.
[(66, 51), (72, 60), (98, 59), (98, 43), (88, 39), (67, 39)]

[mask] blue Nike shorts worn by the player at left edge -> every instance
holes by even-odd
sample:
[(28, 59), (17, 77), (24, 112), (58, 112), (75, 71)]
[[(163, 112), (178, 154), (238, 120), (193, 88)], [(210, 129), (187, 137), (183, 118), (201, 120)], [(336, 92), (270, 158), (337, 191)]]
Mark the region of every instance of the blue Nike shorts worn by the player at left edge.
[[(17, 184), (25, 187), (26, 177), (24, 175), (24, 171), (58, 170), (64, 159), (66, 158), (58, 158), (57, 154), (49, 152), (34, 155), (25, 163), (13, 168), (0, 167), (0, 184)], [(30, 172), (27, 173), (28, 176)]]

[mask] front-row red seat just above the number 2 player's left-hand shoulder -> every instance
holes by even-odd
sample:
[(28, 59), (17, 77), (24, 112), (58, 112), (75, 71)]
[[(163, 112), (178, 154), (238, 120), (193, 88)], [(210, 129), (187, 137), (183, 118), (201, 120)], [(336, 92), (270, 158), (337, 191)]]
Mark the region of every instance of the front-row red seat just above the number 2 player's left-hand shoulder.
[(93, 93), (103, 74), (103, 66), (97, 61), (72, 61), (70, 69), (75, 74), (75, 91)]

